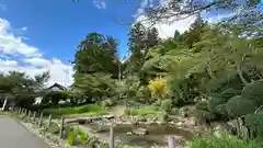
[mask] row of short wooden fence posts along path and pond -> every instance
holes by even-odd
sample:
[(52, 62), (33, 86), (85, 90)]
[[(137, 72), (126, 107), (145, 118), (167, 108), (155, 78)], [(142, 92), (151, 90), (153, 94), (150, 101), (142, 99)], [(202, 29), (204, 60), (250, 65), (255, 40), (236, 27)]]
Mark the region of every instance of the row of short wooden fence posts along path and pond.
[[(24, 116), (24, 117), (27, 117), (30, 121), (33, 122), (33, 124), (37, 125), (39, 128), (44, 126), (44, 121), (43, 121), (43, 112), (32, 112), (30, 110), (26, 110), (26, 109), (22, 109), (22, 107), (19, 107), (19, 109), (14, 109), (14, 111), (20, 115), (20, 116)], [(38, 116), (38, 115), (39, 116)], [(59, 133), (58, 133), (58, 137), (59, 138), (64, 138), (64, 133), (65, 133), (65, 118), (66, 117), (61, 117), (60, 118), (60, 122), (59, 122)], [(48, 116), (48, 122), (47, 122), (47, 127), (50, 127), (52, 126), (52, 122), (53, 122), (53, 116), (49, 115)], [(110, 140), (108, 140), (108, 146), (110, 148), (114, 148), (114, 129), (113, 127), (111, 126), (110, 127)], [(100, 147), (100, 146), (98, 146)], [(175, 139), (173, 136), (169, 136), (168, 137), (168, 148), (175, 148)]]

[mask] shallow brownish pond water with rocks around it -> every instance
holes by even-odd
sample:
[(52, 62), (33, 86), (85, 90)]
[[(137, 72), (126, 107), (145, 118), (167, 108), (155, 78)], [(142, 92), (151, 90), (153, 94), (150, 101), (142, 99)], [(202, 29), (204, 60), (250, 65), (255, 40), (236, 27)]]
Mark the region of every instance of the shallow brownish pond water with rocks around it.
[[(92, 123), (89, 125), (85, 125), (85, 127), (89, 127), (92, 133), (96, 134), (98, 136), (108, 139), (110, 136), (110, 129), (108, 127), (102, 125), (99, 125), (98, 123)], [(148, 135), (139, 136), (139, 135), (129, 135), (127, 133), (132, 133), (133, 128), (136, 127), (142, 127), (148, 130)], [(116, 139), (121, 141), (121, 144), (124, 145), (132, 145), (132, 146), (140, 146), (144, 148), (151, 147), (155, 145), (158, 146), (165, 146), (167, 145), (167, 137), (168, 136), (174, 136), (175, 141), (178, 145), (185, 145), (185, 141), (188, 140), (193, 134), (188, 130), (184, 130), (181, 128), (176, 128), (169, 125), (159, 125), (159, 124), (151, 124), (151, 125), (145, 125), (140, 124), (134, 127), (130, 124), (119, 124), (115, 125), (113, 127), (114, 129), (114, 136)], [(103, 129), (103, 130), (101, 130)], [(100, 132), (98, 132), (100, 130)]]

